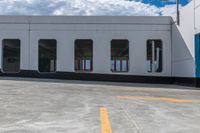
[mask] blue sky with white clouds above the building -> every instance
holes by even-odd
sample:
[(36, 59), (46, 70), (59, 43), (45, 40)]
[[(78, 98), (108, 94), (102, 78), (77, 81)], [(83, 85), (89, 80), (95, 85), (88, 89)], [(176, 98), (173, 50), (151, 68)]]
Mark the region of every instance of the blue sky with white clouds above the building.
[[(188, 0), (181, 0), (184, 6)], [(0, 0), (0, 15), (170, 15), (174, 0)]]

